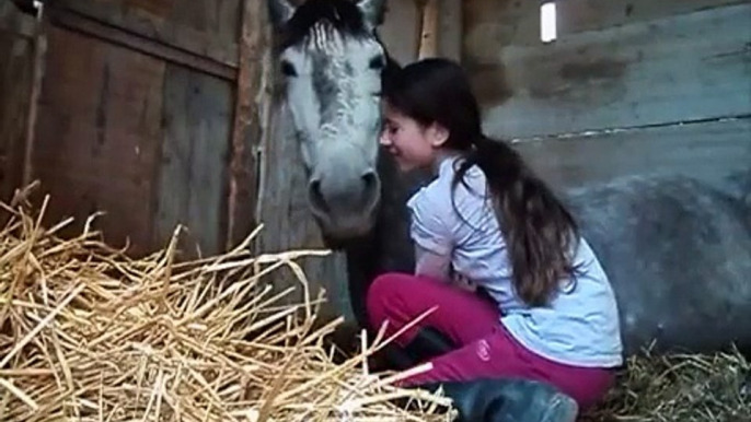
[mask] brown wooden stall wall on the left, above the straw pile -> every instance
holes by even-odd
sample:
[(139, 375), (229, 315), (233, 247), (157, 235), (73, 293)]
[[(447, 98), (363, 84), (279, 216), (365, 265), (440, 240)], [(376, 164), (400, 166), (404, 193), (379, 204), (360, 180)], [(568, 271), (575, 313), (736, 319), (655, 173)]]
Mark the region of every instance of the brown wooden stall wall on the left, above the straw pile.
[[(3, 10), (13, 8), (7, 3)], [(48, 8), (31, 143), (32, 179), (51, 196), (48, 221), (72, 215), (79, 224), (68, 233), (77, 233), (103, 211), (96, 228), (114, 246), (129, 243), (132, 255), (165, 246), (177, 224), (189, 231), (188, 255), (224, 249), (233, 143), (257, 142), (235, 122), (238, 86), (249, 85), (239, 74), (255, 77), (249, 69), (259, 66), (240, 62), (249, 47), (240, 40), (243, 11), (243, 0), (58, 0)], [(27, 37), (34, 31), (32, 20)], [(0, 151), (10, 151), (26, 120), (33, 48), (3, 37), (0, 51), (13, 60), (0, 67), (2, 96), (18, 98), (3, 101), (0, 113)], [(258, 124), (247, 116), (254, 109), (244, 112), (244, 125)], [(245, 164), (242, 172), (253, 173)], [(9, 167), (5, 191), (20, 183), (20, 169)], [(253, 219), (249, 212), (235, 238)]]

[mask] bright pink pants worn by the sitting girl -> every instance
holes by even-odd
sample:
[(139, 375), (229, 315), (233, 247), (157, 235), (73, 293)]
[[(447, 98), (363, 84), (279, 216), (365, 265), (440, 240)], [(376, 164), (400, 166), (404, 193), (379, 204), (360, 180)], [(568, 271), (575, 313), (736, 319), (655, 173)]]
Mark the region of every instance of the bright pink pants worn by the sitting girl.
[(613, 382), (611, 370), (564, 365), (532, 353), (506, 330), (494, 303), (439, 281), (383, 274), (370, 286), (367, 306), (376, 330), (389, 321), (386, 336), (438, 306), (395, 343), (406, 345), (419, 327), (431, 327), (459, 345), (431, 360), (434, 368), (407, 378), (406, 385), (480, 377), (532, 378), (554, 385), (584, 410), (602, 399)]

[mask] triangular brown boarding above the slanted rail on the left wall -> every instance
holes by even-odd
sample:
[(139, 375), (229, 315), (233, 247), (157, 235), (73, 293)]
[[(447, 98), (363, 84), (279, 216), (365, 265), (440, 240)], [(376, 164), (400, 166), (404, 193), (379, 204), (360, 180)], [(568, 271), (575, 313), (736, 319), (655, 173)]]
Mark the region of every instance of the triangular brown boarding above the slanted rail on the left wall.
[[(228, 20), (224, 30), (217, 35), (207, 30), (197, 30), (178, 22), (170, 15), (174, 10), (195, 8), (195, 0), (57, 0), (55, 5), (76, 11), (85, 16), (99, 20), (142, 37), (159, 40), (163, 44), (184, 49), (197, 56), (209, 57), (233, 68), (238, 67), (238, 26), (236, 20)], [(217, 4), (221, 17), (227, 17), (232, 4), (239, 15), (239, 1), (222, 2), (206, 0), (201, 4), (213, 10)], [(208, 10), (208, 9), (207, 9)], [(234, 35), (234, 36), (230, 36)]]

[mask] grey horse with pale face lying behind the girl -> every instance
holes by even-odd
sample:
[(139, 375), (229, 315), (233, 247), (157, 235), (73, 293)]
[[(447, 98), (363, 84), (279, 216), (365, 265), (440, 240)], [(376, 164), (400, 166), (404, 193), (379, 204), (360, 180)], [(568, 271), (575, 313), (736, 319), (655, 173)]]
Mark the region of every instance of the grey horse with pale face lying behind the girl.
[[(379, 149), (380, 81), (398, 66), (378, 36), (384, 3), (267, 3), (309, 210), (325, 246), (346, 254), (360, 327), (369, 283), (414, 269), (405, 203), (431, 177), (400, 174)], [(750, 354), (751, 169), (728, 177), (735, 189), (656, 174), (562, 192), (613, 284), (626, 355), (648, 347)]]

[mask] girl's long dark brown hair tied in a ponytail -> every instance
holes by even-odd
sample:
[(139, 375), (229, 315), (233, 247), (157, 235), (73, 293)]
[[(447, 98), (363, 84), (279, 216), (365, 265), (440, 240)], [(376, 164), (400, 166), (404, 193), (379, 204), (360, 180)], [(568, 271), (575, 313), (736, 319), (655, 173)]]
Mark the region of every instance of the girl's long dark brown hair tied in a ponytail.
[(574, 274), (579, 228), (570, 212), (507, 142), (486, 137), (480, 107), (459, 65), (442, 58), (412, 63), (383, 81), (383, 96), (424, 126), (449, 130), (447, 148), (461, 151), (454, 188), (473, 165), (485, 174), (507, 244), (519, 297), (548, 303), (558, 283)]

